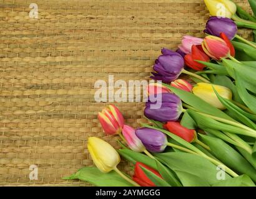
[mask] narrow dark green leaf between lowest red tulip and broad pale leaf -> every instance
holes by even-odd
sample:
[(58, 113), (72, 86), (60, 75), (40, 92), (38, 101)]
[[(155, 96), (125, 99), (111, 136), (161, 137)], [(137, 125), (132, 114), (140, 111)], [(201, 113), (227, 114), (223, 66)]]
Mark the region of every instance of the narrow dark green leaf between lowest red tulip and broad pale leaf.
[(169, 183), (172, 187), (182, 187), (177, 177), (175, 177), (175, 173), (169, 168), (165, 167), (159, 160), (155, 160), (157, 162), (157, 170), (159, 174), (164, 178), (164, 180)]

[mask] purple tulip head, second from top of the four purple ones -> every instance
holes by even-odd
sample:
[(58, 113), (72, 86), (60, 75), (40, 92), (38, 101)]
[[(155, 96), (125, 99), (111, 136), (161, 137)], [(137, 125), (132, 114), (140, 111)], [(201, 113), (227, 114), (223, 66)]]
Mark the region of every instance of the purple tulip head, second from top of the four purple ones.
[(155, 60), (155, 73), (150, 78), (170, 83), (178, 78), (184, 68), (184, 58), (177, 52), (162, 49), (162, 55)]

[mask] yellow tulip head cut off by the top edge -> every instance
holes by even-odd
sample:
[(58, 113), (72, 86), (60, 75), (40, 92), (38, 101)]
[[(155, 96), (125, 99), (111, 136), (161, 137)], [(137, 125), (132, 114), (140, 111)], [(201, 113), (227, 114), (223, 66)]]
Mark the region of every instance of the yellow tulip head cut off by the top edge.
[(231, 18), (237, 11), (237, 6), (230, 0), (204, 0), (211, 16)]

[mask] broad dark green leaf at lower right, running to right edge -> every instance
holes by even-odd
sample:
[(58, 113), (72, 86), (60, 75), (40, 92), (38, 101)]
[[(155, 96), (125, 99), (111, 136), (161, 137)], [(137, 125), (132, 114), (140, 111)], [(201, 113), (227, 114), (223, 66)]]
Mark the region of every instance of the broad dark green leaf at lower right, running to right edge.
[(200, 134), (200, 137), (202, 137), (203, 141), (210, 147), (210, 150), (217, 159), (230, 167), (230, 169), (235, 169), (241, 174), (249, 175), (249, 177), (256, 182), (256, 170), (239, 152), (219, 138), (204, 136), (202, 134)]

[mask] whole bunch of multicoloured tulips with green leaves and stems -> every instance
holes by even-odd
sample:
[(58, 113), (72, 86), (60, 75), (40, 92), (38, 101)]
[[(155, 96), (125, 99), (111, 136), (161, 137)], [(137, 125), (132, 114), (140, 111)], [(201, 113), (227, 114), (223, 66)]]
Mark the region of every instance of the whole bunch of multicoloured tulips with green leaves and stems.
[[(256, 3), (249, 2), (255, 14)], [(237, 25), (254, 29), (256, 17), (232, 1), (205, 4), (212, 15), (205, 38), (185, 36), (178, 50), (162, 49), (155, 60), (156, 82), (147, 87), (144, 109), (149, 123), (134, 129), (116, 106), (107, 106), (99, 122), (106, 134), (120, 136), (122, 149), (89, 137), (96, 167), (65, 179), (97, 186), (255, 187), (256, 45), (237, 35)], [(179, 79), (181, 73), (190, 80)], [(152, 108), (156, 95), (161, 104)], [(120, 155), (134, 165), (132, 177), (117, 169)]]

